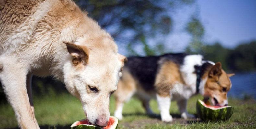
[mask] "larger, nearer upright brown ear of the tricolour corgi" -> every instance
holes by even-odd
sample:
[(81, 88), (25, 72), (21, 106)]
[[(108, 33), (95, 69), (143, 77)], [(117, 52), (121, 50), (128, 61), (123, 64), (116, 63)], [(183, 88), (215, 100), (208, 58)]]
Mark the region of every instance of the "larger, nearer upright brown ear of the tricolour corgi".
[(217, 62), (209, 71), (209, 77), (215, 79), (216, 81), (219, 80), (219, 76), (222, 74), (221, 71), (221, 63)]

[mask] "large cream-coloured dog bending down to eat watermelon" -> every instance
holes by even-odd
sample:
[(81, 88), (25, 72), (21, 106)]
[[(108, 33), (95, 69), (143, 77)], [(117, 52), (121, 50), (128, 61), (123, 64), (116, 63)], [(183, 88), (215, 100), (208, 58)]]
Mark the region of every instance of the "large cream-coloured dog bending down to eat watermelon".
[(71, 0), (0, 1), (0, 79), (19, 126), (38, 129), (31, 78), (53, 76), (104, 127), (125, 57)]

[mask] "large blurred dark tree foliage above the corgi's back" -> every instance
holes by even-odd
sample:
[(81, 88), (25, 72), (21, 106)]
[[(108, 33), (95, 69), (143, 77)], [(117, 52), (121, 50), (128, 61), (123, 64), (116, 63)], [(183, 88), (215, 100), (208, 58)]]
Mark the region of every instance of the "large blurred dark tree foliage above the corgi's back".
[[(172, 28), (171, 14), (180, 6), (194, 0), (75, 0), (89, 12), (89, 16), (107, 29), (117, 43), (127, 44), (130, 53), (137, 54), (133, 46), (143, 46), (145, 55), (162, 51), (163, 44), (149, 47), (147, 41), (156, 36), (164, 38)], [(151, 51), (151, 52), (149, 52)], [(161, 53), (161, 52), (160, 52)]]

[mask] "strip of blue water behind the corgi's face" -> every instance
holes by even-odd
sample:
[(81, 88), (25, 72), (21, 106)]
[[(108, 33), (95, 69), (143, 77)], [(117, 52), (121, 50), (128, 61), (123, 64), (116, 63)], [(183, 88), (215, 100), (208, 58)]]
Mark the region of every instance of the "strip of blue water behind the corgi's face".
[(244, 98), (253, 97), (256, 99), (256, 72), (236, 73), (230, 77), (232, 88), (228, 92), (228, 97)]

